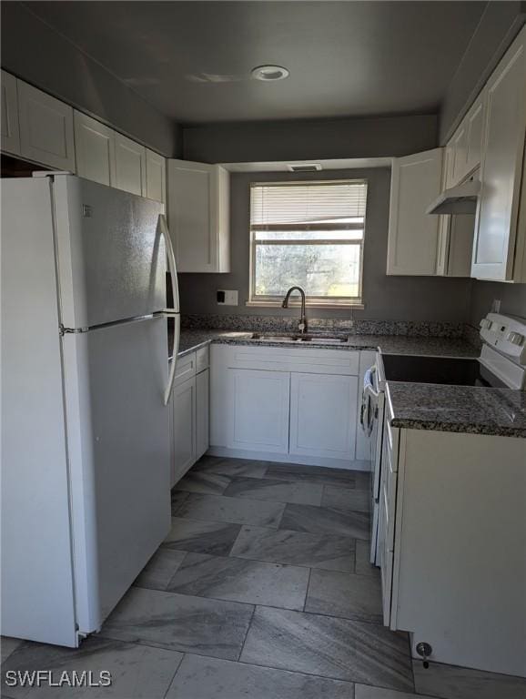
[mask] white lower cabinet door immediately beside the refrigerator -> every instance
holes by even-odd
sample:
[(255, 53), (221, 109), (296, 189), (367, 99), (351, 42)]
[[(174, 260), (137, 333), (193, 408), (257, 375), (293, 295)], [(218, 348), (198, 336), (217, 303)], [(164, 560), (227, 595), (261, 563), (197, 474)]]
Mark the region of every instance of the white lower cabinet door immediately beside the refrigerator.
[(188, 379), (172, 393), (172, 483), (196, 461), (196, 379)]

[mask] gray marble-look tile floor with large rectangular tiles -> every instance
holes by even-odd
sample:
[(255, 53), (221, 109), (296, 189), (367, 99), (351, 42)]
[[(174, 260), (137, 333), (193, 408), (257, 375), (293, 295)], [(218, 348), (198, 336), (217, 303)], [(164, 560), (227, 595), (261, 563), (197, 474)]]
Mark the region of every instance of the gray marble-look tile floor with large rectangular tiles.
[(103, 688), (6, 699), (520, 699), (526, 680), (412, 663), (381, 624), (369, 474), (204, 457), (172, 528), (100, 633), (76, 650), (2, 639), (6, 670), (109, 670)]

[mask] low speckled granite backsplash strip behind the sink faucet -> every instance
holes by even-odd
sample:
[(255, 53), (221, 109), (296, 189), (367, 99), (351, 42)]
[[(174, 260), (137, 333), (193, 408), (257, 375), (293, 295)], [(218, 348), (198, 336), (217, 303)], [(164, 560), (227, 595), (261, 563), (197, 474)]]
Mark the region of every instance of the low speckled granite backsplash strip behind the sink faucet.
[[(309, 318), (309, 329), (348, 332), (353, 335), (404, 335), (429, 338), (461, 338), (464, 324), (428, 320), (361, 320)], [(221, 329), (271, 331), (298, 329), (298, 319), (283, 316), (248, 316), (227, 314), (192, 314), (181, 316), (184, 329)]]

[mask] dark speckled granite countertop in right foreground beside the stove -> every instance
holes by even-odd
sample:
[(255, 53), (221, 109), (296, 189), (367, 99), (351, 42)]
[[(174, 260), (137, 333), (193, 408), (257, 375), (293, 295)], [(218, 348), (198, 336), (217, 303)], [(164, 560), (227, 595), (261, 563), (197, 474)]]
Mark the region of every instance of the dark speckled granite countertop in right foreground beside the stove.
[(388, 381), (393, 427), (526, 438), (526, 391)]

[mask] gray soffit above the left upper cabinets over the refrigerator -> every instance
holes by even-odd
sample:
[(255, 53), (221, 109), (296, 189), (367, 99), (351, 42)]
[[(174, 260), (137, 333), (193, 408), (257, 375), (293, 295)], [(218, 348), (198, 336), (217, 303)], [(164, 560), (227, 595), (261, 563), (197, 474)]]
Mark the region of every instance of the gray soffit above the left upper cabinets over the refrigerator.
[(2, 3), (2, 67), (118, 131), (180, 157), (180, 128), (24, 5)]

